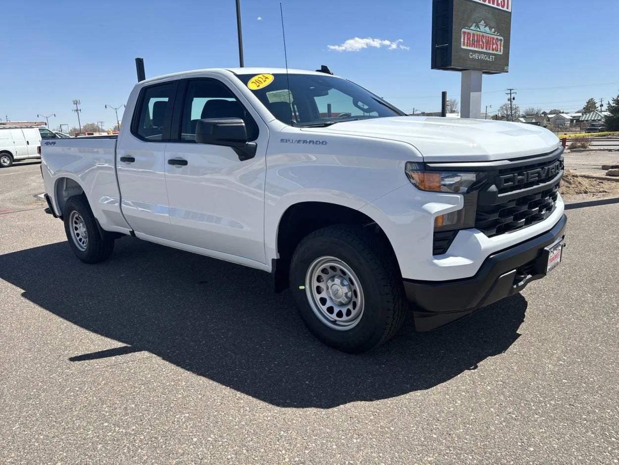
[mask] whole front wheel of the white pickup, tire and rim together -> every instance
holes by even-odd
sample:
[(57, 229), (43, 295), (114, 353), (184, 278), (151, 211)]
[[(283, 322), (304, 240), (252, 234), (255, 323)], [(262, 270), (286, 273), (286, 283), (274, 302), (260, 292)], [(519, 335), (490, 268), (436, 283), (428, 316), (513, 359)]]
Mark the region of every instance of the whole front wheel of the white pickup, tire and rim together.
[(305, 237), (290, 263), (290, 288), (309, 330), (344, 352), (365, 352), (389, 340), (408, 308), (391, 250), (353, 225)]

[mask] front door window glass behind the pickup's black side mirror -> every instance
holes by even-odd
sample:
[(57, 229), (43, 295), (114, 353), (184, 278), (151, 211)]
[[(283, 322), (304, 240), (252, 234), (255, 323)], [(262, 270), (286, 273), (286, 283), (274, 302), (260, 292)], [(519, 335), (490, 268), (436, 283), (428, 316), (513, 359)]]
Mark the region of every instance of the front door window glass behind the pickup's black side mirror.
[(258, 126), (235, 95), (213, 79), (189, 81), (181, 119), (181, 140), (196, 141), (197, 121), (206, 118), (241, 118), (250, 141), (258, 138)]

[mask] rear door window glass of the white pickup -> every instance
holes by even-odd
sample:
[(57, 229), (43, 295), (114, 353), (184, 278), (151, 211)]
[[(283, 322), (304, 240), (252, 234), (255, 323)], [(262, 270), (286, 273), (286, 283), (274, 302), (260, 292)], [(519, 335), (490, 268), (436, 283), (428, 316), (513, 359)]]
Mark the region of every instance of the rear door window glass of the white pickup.
[(163, 126), (168, 113), (168, 106), (172, 97), (173, 83), (147, 87), (141, 100), (137, 124), (133, 128), (134, 134), (149, 141), (163, 139)]

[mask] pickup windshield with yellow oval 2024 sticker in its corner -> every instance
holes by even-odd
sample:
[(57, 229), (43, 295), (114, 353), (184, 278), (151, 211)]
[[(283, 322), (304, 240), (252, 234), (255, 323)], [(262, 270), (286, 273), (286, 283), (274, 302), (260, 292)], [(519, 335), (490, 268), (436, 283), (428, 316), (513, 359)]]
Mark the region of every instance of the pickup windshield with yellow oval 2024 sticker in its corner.
[(318, 74), (240, 74), (275, 118), (290, 126), (329, 126), (369, 118), (404, 116), (353, 82)]

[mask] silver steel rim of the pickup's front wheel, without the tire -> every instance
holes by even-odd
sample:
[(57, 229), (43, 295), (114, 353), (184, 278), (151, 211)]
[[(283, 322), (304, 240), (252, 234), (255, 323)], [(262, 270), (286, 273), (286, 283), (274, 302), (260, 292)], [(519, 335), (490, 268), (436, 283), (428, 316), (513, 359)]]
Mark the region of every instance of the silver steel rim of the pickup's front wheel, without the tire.
[(363, 288), (355, 272), (336, 257), (320, 257), (305, 274), (309, 306), (322, 322), (340, 331), (355, 327), (363, 316)]

